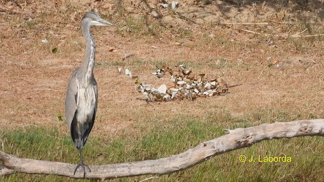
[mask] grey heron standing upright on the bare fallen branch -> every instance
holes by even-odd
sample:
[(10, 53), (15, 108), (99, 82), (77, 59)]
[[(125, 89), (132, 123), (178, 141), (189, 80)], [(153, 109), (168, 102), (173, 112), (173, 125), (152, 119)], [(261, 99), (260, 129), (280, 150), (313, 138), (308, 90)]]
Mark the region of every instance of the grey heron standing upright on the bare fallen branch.
[(93, 75), (95, 66), (95, 39), (90, 33), (91, 26), (114, 26), (103, 20), (94, 12), (88, 12), (82, 18), (82, 32), (86, 40), (86, 54), (80, 67), (77, 67), (71, 74), (67, 86), (65, 98), (65, 118), (72, 137), (74, 146), (79, 152), (79, 164), (74, 169), (73, 175), (77, 168), (82, 167), (84, 177), (86, 169), (91, 169), (83, 163), (82, 148), (87, 142), (88, 135), (93, 127), (97, 103), (98, 88), (97, 82)]

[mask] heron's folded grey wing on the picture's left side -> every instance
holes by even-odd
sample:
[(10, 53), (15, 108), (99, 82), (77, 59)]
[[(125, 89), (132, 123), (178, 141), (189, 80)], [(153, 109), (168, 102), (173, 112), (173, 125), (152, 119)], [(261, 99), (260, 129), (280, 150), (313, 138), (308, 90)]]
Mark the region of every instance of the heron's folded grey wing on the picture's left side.
[(77, 82), (76, 82), (76, 72), (79, 68), (76, 68), (71, 76), (70, 81), (67, 86), (66, 98), (65, 98), (65, 119), (66, 124), (71, 129), (71, 123), (76, 111), (77, 102)]

